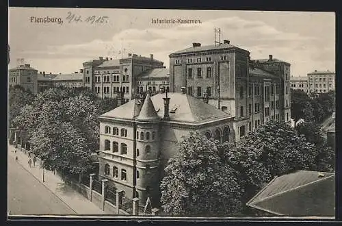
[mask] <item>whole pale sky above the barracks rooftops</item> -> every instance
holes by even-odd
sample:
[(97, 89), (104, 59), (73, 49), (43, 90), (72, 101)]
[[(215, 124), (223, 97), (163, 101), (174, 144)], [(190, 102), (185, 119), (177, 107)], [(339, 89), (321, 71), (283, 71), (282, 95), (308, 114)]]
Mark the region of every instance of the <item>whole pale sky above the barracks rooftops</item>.
[[(67, 17), (81, 16), (68, 23)], [(33, 23), (31, 17), (60, 18), (63, 23)], [(107, 16), (107, 23), (86, 18)], [(160, 24), (152, 19), (192, 19), (198, 24)], [(10, 8), (10, 64), (24, 58), (38, 71), (72, 73), (99, 56), (121, 58), (128, 53), (150, 56), (169, 67), (168, 55), (192, 46), (221, 41), (250, 51), (252, 59), (273, 58), (291, 64), (291, 75), (335, 71), (334, 12), (261, 12), (218, 10), (134, 10), (86, 8)], [(120, 53), (121, 51), (121, 53)]]

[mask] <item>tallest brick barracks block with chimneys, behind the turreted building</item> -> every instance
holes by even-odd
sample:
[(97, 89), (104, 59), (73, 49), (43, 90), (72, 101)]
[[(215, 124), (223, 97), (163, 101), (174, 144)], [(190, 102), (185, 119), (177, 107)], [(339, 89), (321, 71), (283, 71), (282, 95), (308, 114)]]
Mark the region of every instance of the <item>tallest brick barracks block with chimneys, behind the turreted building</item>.
[(189, 95), (206, 97), (209, 104), (235, 116), (237, 141), (272, 117), (290, 121), (289, 63), (269, 55), (251, 61), (251, 68), (250, 52), (228, 40), (208, 46), (195, 42), (169, 57), (170, 91), (185, 87)]

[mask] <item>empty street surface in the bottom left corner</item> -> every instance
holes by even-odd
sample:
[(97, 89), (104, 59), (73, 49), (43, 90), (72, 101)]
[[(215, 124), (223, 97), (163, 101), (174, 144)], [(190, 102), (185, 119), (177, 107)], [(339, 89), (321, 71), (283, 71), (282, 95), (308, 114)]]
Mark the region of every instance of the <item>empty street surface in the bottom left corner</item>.
[(8, 214), (76, 213), (9, 155)]

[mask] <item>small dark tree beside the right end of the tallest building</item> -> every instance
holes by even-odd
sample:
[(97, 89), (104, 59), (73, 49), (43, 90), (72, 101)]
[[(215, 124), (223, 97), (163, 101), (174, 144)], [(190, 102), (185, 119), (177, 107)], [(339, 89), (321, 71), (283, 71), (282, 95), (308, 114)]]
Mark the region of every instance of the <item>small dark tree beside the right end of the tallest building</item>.
[(291, 90), (291, 117), (296, 123), (302, 118), (307, 120), (313, 117), (313, 108), (310, 98), (302, 90)]

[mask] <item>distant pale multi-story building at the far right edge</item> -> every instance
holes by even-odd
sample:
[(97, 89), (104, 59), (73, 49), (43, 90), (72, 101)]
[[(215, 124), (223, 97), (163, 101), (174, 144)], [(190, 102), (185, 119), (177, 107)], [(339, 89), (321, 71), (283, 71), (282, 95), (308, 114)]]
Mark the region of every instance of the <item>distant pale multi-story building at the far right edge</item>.
[(335, 73), (317, 71), (308, 73), (308, 90), (314, 93), (325, 93), (335, 90)]

